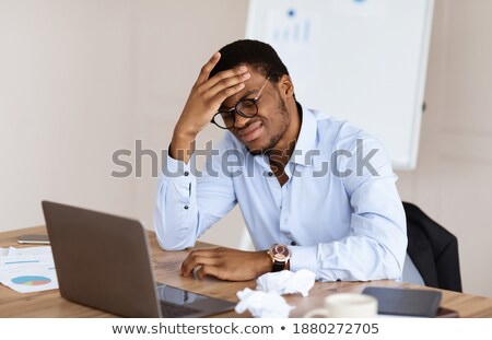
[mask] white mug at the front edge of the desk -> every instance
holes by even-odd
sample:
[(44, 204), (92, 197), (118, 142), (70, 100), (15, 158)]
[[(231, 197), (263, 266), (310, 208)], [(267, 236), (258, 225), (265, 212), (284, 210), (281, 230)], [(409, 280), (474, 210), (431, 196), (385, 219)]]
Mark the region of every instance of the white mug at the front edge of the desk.
[(338, 293), (325, 297), (323, 308), (307, 312), (304, 317), (376, 317), (377, 300), (356, 293)]

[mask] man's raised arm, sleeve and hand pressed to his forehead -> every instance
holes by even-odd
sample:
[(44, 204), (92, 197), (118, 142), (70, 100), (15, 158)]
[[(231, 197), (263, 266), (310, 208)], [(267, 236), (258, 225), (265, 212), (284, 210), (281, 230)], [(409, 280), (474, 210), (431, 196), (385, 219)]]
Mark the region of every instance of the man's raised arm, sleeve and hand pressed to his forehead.
[[(197, 237), (235, 204), (231, 178), (221, 176), (221, 173), (208, 177), (206, 174), (207, 179), (196, 178), (196, 171), (189, 162), (198, 133), (210, 124), (222, 102), (239, 92), (250, 77), (246, 67), (238, 67), (209, 79), (219, 59), (220, 54), (216, 52), (201, 68), (174, 129), (165, 168), (160, 177), (154, 228), (164, 249), (194, 246)], [(209, 186), (199, 184), (207, 180)], [(197, 199), (199, 185), (204, 190)]]

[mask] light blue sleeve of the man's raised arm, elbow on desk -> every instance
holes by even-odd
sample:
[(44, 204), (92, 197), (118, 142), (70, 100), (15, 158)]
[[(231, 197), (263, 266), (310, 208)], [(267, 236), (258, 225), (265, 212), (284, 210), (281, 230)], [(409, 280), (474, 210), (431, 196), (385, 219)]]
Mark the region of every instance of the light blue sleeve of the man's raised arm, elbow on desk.
[(219, 155), (209, 157), (200, 174), (192, 160), (185, 164), (167, 156), (154, 210), (154, 228), (163, 249), (192, 247), (201, 234), (236, 204), (232, 178), (223, 173), (221, 164), (220, 155), (227, 144), (224, 138), (213, 146)]

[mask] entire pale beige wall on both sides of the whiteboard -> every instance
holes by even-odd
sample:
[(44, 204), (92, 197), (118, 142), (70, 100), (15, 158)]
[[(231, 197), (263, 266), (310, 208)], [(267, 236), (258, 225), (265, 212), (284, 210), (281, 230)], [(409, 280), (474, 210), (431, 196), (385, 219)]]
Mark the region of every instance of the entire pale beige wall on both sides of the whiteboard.
[[(151, 225), (156, 178), (114, 178), (136, 140), (166, 149), (200, 67), (244, 36), (247, 0), (0, 0), (0, 231), (48, 198)], [(459, 238), (465, 291), (492, 296), (492, 1), (436, 0), (418, 169), (403, 199)], [(218, 139), (212, 126), (200, 140)], [(134, 161), (132, 161), (134, 164)], [(203, 239), (234, 246), (238, 211)], [(485, 241), (485, 242), (482, 242)]]

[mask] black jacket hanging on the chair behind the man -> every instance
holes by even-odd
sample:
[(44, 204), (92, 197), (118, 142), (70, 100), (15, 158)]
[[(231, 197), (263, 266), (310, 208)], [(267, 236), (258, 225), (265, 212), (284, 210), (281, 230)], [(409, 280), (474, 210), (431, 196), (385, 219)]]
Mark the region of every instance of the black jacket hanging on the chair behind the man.
[(419, 207), (403, 202), (407, 214), (407, 253), (425, 285), (461, 292), (458, 239)]

